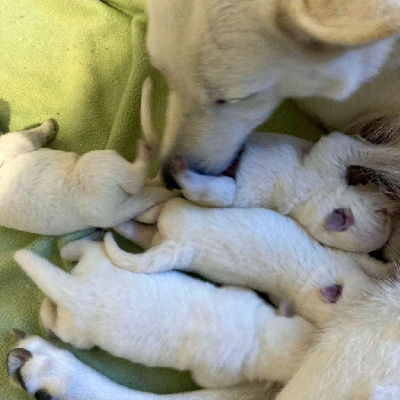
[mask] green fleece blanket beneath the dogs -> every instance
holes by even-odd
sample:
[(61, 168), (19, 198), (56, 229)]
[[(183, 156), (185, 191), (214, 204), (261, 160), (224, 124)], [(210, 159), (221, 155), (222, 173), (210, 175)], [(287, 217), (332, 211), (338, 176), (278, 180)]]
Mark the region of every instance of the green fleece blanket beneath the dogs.
[[(78, 153), (115, 149), (133, 159), (140, 136), (141, 84), (149, 74), (155, 81), (155, 123), (162, 128), (168, 89), (150, 69), (145, 52), (144, 0), (1, 0), (0, 16), (1, 131), (53, 118), (59, 129), (51, 147)], [(293, 102), (285, 103), (265, 127), (319, 136)], [(43, 295), (13, 262), (13, 253), (33, 246), (70, 268), (59, 259), (58, 248), (84, 234), (39, 238), (0, 228), (0, 400), (29, 398), (11, 387), (6, 376), (10, 329), (44, 335), (38, 320)], [(156, 393), (195, 388), (187, 373), (133, 365), (99, 349), (74, 353), (132, 388)]]

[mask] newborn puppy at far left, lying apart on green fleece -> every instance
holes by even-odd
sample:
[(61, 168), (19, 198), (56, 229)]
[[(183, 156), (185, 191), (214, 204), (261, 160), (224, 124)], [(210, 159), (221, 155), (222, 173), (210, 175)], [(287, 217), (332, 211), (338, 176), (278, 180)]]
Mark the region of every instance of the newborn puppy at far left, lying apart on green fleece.
[(54, 136), (51, 120), (0, 136), (0, 225), (43, 235), (110, 227), (172, 197), (143, 187), (150, 153), (143, 143), (135, 163), (115, 151), (83, 156), (41, 149)]

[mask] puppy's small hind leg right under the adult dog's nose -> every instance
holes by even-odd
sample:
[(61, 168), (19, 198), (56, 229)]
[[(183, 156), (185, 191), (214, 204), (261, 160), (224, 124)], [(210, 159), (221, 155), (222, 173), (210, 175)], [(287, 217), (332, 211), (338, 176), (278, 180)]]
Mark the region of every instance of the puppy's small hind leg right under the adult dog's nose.
[(175, 165), (174, 178), (183, 195), (203, 207), (229, 207), (233, 204), (236, 184), (227, 176), (201, 175), (186, 168), (182, 161)]

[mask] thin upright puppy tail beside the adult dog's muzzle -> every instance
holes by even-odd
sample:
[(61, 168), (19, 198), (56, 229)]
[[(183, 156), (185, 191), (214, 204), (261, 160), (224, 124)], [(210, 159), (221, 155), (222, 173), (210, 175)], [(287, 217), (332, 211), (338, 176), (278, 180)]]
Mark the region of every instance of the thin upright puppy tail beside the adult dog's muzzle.
[(153, 126), (151, 115), (151, 95), (153, 84), (150, 77), (146, 78), (142, 86), (142, 99), (140, 103), (140, 120), (144, 139), (155, 155), (158, 155), (161, 138)]

